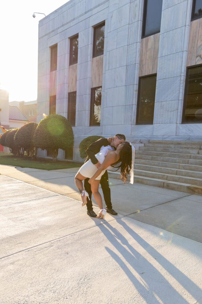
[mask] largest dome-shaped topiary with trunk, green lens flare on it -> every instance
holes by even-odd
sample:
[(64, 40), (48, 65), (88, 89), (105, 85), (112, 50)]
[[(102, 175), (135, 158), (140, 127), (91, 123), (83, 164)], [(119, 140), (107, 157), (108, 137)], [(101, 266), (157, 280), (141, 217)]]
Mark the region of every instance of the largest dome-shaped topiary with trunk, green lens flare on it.
[(56, 161), (58, 149), (67, 150), (74, 145), (74, 134), (68, 119), (58, 114), (42, 119), (35, 130), (33, 145), (42, 150), (51, 149)]

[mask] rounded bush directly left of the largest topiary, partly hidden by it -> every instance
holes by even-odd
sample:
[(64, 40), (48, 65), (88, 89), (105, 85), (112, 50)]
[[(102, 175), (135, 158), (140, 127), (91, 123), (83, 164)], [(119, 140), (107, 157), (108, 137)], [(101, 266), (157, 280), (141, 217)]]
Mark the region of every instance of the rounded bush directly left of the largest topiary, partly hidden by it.
[[(28, 155), (36, 157), (37, 149), (33, 145), (33, 136), (38, 124), (25, 123), (15, 134), (14, 142), (16, 146), (22, 147), (22, 153), (27, 150)], [(24, 154), (24, 153), (23, 153)]]

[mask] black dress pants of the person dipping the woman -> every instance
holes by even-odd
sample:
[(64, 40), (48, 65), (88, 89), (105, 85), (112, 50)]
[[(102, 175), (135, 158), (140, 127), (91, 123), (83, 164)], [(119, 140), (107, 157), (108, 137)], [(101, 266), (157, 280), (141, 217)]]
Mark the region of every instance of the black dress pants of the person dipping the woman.
[[(84, 189), (85, 189), (85, 191), (88, 192), (88, 195), (89, 195), (89, 198), (90, 198), (90, 200), (87, 198), (86, 206), (87, 206), (88, 210), (93, 210), (93, 204), (92, 204), (92, 201), (91, 201), (91, 196), (92, 196), (91, 185), (88, 183), (88, 181), (89, 181), (89, 178), (86, 178), (84, 180)], [(112, 208), (112, 205), (111, 205), (111, 191), (110, 191), (110, 188), (109, 188), (109, 180), (108, 180), (107, 170), (104, 172), (104, 174), (101, 177), (100, 185), (101, 185), (102, 192), (103, 192), (103, 195), (104, 195), (104, 201), (105, 201), (106, 207), (107, 208)]]

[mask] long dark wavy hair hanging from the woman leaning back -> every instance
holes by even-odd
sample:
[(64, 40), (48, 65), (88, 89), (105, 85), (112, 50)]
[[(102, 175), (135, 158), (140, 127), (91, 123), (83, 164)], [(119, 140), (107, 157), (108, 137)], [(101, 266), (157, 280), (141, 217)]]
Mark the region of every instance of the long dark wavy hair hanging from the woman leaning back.
[(128, 177), (129, 171), (131, 170), (132, 165), (132, 147), (128, 141), (123, 143), (123, 147), (120, 151), (120, 158), (119, 160), (112, 164), (113, 168), (121, 168), (121, 180), (124, 182)]

